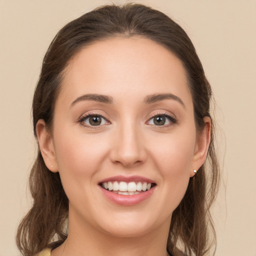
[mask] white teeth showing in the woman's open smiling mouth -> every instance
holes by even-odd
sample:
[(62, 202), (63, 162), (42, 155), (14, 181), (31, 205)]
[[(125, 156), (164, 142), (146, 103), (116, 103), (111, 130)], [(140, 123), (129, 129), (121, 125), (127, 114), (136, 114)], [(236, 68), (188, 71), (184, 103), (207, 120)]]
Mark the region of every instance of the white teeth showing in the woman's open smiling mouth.
[(146, 181), (125, 182), (119, 180), (101, 182), (99, 185), (107, 191), (122, 195), (140, 194), (156, 186), (155, 183)]

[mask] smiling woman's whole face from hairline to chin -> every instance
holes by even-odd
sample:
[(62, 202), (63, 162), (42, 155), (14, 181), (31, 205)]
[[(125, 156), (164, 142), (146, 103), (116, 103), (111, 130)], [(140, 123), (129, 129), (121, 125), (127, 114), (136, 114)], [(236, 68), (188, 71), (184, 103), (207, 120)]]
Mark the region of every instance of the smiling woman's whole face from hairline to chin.
[(117, 236), (169, 225), (207, 144), (179, 59), (145, 38), (98, 41), (71, 60), (61, 86), (48, 156), (38, 138), (69, 219)]

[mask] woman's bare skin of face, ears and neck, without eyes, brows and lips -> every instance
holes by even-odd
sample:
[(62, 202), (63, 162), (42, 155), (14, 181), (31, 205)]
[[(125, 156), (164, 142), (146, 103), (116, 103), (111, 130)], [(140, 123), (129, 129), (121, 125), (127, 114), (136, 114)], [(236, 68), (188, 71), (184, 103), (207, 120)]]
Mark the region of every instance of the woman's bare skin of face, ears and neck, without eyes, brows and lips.
[[(198, 134), (185, 70), (163, 46), (141, 37), (117, 37), (81, 49), (64, 70), (53, 127), (37, 122), (40, 150), (49, 170), (59, 171), (69, 199), (67, 240), (51, 252), (59, 255), (166, 255), (171, 214), (188, 180), (204, 162), (210, 120)], [(104, 94), (112, 103), (79, 100)], [(145, 103), (154, 93), (167, 98)], [(84, 114), (102, 115), (89, 127)], [(163, 125), (153, 116), (169, 114)], [(51, 167), (53, 165), (53, 167)], [(98, 182), (114, 175), (154, 180), (144, 201), (122, 206), (110, 202)]]

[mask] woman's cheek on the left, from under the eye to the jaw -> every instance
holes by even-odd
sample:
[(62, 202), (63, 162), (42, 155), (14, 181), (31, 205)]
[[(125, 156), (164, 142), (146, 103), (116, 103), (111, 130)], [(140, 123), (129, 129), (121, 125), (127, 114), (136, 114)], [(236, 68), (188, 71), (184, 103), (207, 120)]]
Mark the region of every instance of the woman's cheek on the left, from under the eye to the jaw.
[(58, 171), (69, 203), (87, 205), (94, 196), (90, 191), (95, 189), (95, 173), (103, 162), (106, 145), (99, 136), (64, 129), (54, 138)]

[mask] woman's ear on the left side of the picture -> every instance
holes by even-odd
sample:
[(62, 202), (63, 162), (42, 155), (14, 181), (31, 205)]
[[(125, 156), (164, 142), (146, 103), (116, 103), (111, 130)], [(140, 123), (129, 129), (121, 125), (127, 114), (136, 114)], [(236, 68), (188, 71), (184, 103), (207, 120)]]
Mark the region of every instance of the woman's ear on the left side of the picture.
[(39, 119), (36, 123), (36, 134), (45, 165), (50, 171), (57, 172), (58, 167), (52, 136), (47, 131), (45, 121), (43, 119)]

